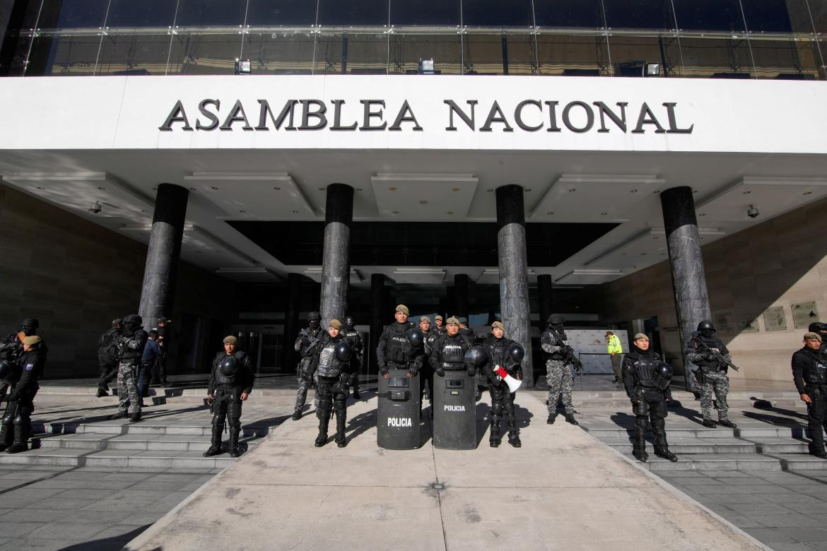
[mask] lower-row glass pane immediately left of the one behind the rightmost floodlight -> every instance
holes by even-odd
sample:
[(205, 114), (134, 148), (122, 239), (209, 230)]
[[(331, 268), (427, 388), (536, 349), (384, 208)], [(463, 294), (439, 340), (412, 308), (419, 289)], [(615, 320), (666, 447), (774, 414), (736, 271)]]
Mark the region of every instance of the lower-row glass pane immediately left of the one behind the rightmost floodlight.
[(610, 75), (605, 36), (537, 36), (540, 74), (565, 76)]

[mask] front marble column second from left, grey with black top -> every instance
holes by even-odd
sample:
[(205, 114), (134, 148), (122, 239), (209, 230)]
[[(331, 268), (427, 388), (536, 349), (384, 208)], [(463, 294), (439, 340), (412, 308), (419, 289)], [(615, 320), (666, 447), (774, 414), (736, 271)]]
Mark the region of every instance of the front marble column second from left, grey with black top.
[(344, 183), (327, 186), (324, 210), (324, 249), (322, 253), (322, 327), (347, 309), (347, 285), (350, 283), (351, 221), (353, 188)]

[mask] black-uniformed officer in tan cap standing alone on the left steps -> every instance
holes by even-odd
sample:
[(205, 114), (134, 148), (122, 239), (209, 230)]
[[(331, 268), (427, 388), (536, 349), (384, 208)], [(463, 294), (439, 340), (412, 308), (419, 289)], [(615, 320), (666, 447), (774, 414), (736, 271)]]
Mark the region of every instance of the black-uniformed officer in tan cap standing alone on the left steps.
[(232, 335), (224, 337), (224, 351), (213, 359), (210, 372), (207, 399), (213, 406), (213, 436), (210, 446), (203, 453), (205, 458), (222, 453), (221, 436), (224, 420), (230, 425), (230, 457), (237, 458), (238, 436), (241, 434), (241, 402), (246, 401), (253, 390), (256, 374), (253, 373), (250, 356), (237, 349), (238, 339)]

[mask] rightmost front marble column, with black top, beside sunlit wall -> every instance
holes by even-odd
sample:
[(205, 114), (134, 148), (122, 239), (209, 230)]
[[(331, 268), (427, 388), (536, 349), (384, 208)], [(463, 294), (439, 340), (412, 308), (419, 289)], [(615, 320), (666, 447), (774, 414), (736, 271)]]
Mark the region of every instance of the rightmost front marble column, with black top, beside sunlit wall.
[(675, 294), (677, 325), (681, 333), (681, 358), (686, 386), (694, 386), (688, 377), (686, 343), (701, 320), (710, 319), (710, 298), (706, 291), (704, 257), (700, 252), (700, 235), (695, 216), (692, 188), (667, 189), (661, 193), (663, 225), (667, 234), (669, 264), (672, 266), (672, 291)]

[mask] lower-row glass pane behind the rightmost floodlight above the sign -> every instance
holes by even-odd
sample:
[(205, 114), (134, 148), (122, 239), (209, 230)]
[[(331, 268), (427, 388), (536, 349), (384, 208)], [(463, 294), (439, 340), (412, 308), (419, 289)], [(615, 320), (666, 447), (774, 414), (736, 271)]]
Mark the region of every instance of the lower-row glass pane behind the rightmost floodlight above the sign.
[(660, 36), (609, 36), (609, 52), (614, 64), (614, 75), (618, 77), (643, 77), (643, 65), (661, 64), (661, 76), (679, 76), (680, 58), (676, 49), (669, 50), (667, 44), (676, 41)]

